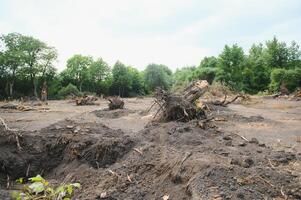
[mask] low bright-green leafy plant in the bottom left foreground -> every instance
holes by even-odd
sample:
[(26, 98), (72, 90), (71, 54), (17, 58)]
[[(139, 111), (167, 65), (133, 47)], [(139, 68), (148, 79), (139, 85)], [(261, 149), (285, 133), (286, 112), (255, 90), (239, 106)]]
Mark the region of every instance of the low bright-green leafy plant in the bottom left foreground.
[[(52, 187), (48, 181), (40, 175), (28, 179), (30, 184), (24, 185), (21, 192), (15, 192), (16, 200), (70, 200), (74, 190), (80, 188), (79, 183), (61, 184)], [(24, 184), (24, 179), (19, 178), (18, 183)]]

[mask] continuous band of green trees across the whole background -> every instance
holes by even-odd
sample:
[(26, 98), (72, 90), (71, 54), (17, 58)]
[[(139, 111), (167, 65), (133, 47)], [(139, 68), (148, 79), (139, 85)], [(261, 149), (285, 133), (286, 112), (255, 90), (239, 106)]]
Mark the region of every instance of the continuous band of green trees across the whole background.
[[(301, 51), (296, 42), (286, 44), (276, 37), (253, 44), (249, 51), (225, 45), (217, 56), (204, 57), (198, 66), (172, 70), (149, 64), (138, 71), (117, 61), (109, 66), (101, 57), (74, 55), (58, 73), (55, 47), (31, 36), (9, 33), (0, 38), (0, 98), (39, 97), (47, 87), (49, 99), (69, 95), (147, 95), (155, 88), (180, 90), (191, 81), (206, 79), (249, 94), (276, 93), (301, 87)], [(200, 55), (202, 57), (202, 55)]]

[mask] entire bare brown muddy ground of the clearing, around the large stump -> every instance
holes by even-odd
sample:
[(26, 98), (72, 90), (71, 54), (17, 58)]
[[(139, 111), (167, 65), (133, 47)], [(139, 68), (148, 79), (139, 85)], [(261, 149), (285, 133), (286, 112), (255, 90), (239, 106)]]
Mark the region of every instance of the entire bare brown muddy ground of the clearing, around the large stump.
[(104, 100), (0, 110), (22, 132), (18, 151), (0, 130), (0, 199), (26, 174), (80, 182), (76, 199), (301, 199), (301, 102), (212, 107), (215, 120), (200, 127), (197, 120), (151, 122), (151, 98), (125, 101), (115, 111)]

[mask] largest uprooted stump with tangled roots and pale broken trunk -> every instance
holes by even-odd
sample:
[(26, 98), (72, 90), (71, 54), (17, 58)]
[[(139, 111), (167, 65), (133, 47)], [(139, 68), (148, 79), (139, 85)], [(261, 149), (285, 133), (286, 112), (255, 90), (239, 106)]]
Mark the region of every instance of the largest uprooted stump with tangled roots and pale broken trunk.
[(156, 90), (154, 104), (159, 106), (154, 118), (158, 116), (161, 121), (190, 121), (192, 119), (206, 118), (203, 109), (198, 108), (195, 101), (208, 89), (208, 82), (197, 81), (189, 85), (183, 95)]

